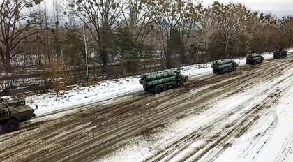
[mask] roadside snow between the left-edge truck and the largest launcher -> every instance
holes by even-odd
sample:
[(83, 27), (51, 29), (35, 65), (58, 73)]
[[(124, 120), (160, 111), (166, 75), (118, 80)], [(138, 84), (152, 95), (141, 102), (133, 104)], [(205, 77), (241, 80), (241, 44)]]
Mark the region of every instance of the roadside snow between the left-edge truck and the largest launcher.
[(26, 101), (32, 108), (38, 106), (38, 109), (35, 110), (37, 116), (44, 115), (55, 110), (96, 103), (130, 91), (142, 91), (138, 80), (139, 78), (108, 80), (92, 87), (76, 87), (69, 91), (59, 91), (59, 96), (57, 96), (57, 92), (29, 96)]

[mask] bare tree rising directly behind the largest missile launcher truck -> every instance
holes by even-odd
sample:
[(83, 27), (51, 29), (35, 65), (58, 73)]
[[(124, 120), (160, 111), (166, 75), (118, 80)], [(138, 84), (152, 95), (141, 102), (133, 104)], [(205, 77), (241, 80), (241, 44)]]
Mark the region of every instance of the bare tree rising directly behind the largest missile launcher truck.
[(148, 6), (151, 10), (152, 20), (156, 24), (154, 29), (158, 29), (156, 36), (163, 47), (166, 66), (171, 68), (172, 49), (175, 48), (175, 45), (180, 44), (181, 33), (186, 33), (187, 20), (190, 20), (190, 17), (195, 13), (195, 3), (188, 0), (152, 0), (149, 1)]

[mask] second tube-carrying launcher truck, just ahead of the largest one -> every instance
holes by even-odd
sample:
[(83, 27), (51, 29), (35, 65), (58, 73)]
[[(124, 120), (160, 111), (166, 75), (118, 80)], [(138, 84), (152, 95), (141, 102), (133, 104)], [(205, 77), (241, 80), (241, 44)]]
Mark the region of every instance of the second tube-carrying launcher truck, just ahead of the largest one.
[(216, 74), (225, 74), (235, 71), (236, 68), (239, 66), (236, 62), (232, 59), (220, 59), (213, 61), (211, 64), (211, 68), (213, 68), (213, 73)]

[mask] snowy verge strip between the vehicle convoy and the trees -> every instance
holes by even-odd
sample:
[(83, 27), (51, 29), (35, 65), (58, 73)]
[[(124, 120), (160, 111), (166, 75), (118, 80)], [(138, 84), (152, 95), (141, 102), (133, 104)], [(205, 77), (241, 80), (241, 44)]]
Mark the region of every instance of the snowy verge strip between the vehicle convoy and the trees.
[[(273, 54), (263, 54), (265, 59), (273, 58)], [(245, 58), (235, 59), (239, 66), (246, 65)], [(181, 68), (181, 73), (194, 77), (198, 75), (211, 74), (211, 63), (195, 64)], [(118, 80), (107, 80), (91, 87), (75, 87), (68, 91), (50, 92), (47, 94), (28, 96), (26, 99), (28, 105), (32, 108), (38, 107), (36, 115), (45, 115), (56, 110), (80, 107), (110, 98), (123, 96), (137, 91), (143, 91), (139, 84), (139, 76), (130, 78), (121, 78)]]

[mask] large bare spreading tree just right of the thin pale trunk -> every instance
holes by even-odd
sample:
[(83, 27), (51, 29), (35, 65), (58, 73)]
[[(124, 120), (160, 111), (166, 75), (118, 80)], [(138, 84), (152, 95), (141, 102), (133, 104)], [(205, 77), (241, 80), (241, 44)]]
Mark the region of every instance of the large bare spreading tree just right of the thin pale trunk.
[(103, 71), (107, 71), (108, 56), (112, 52), (113, 31), (121, 25), (125, 10), (123, 0), (68, 0), (70, 10), (91, 29), (99, 47)]

